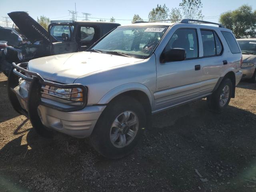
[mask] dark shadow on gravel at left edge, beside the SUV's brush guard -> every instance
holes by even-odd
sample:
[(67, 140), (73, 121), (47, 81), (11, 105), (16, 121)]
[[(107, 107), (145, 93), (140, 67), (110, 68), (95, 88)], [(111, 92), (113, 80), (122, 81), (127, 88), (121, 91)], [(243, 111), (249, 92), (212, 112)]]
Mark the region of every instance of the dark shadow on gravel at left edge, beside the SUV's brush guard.
[(10, 104), (7, 94), (7, 81), (0, 81), (0, 98), (0, 122), (19, 116)]

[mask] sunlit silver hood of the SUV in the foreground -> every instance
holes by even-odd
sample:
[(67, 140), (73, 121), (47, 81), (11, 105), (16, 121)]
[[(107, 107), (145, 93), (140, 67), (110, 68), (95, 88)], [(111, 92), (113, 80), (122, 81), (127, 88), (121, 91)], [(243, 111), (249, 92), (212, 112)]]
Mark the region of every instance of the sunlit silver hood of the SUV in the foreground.
[(92, 75), (142, 60), (94, 52), (77, 52), (30, 60), (28, 69), (47, 80), (71, 84), (80, 76)]

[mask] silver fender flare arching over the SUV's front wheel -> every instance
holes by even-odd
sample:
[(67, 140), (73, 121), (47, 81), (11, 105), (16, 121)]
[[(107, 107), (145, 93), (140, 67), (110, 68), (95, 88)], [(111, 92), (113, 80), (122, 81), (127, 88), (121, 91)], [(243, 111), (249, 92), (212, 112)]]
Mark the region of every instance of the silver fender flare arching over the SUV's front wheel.
[(150, 102), (151, 107), (153, 107), (154, 99), (148, 87), (141, 83), (127, 83), (120, 86), (115, 87), (114, 89), (107, 92), (98, 102), (98, 104), (108, 104), (113, 98), (116, 96), (128, 92), (128, 91), (142, 91), (148, 96), (148, 100)]

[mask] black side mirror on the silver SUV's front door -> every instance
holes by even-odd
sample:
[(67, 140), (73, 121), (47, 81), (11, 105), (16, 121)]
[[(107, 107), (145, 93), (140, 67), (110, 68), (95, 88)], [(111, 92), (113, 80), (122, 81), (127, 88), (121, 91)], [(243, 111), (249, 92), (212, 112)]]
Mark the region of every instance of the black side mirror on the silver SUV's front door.
[(173, 48), (163, 52), (160, 56), (160, 62), (183, 61), (186, 59), (186, 50), (182, 48)]

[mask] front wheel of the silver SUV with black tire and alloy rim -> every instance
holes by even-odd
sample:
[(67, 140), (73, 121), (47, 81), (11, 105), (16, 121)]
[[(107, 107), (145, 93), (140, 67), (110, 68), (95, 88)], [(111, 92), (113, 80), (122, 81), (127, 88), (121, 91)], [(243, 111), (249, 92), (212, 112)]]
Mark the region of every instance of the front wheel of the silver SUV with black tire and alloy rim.
[[(129, 122), (134, 125), (129, 126)], [(146, 113), (142, 104), (132, 97), (122, 96), (110, 102), (102, 112), (90, 140), (94, 149), (103, 156), (122, 158), (138, 144), (145, 126)]]

